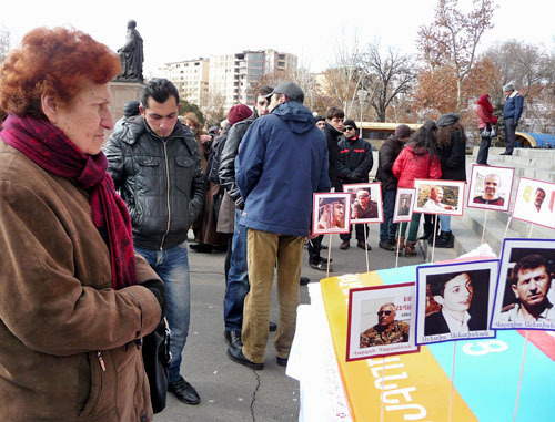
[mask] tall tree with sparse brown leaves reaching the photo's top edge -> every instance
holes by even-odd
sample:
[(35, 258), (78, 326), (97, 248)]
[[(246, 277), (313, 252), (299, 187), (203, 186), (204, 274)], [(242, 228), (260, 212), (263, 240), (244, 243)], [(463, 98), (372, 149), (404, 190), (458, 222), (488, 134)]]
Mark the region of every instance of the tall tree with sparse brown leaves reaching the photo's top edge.
[(476, 61), (476, 48), (485, 31), (493, 28), (493, 0), (473, 0), (468, 13), (458, 10), (458, 0), (438, 0), (435, 20), (421, 27), (416, 44), (421, 59), (433, 73), (450, 65), (456, 79), (456, 109), (463, 110), (463, 84)]

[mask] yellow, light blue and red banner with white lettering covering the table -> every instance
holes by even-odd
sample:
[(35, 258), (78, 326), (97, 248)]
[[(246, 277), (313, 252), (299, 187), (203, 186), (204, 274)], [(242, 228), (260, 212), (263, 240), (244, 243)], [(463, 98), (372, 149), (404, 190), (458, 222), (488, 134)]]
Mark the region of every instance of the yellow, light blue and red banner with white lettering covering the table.
[[(345, 361), (349, 289), (415, 279), (416, 266), (411, 266), (321, 280), (353, 420), (380, 421), (382, 391), (384, 421), (513, 420), (525, 341), (517, 331), (498, 331), (495, 339), (422, 347), (420, 353)], [(555, 415), (555, 338), (541, 334), (528, 333), (516, 421), (547, 421)], [(454, 346), (455, 389), (450, 418)]]

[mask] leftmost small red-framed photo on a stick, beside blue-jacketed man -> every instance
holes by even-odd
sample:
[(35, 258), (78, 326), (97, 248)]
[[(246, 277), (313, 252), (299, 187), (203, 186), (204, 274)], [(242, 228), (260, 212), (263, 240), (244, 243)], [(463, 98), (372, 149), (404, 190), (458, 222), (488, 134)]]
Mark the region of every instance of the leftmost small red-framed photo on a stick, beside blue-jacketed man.
[(326, 235), (351, 231), (351, 194), (314, 194), (312, 233)]

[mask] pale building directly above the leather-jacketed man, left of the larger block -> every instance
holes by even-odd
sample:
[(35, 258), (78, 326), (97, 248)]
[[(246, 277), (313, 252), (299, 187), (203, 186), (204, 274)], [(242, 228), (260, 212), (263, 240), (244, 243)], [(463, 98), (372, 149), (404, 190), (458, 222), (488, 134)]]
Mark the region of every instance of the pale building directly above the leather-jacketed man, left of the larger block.
[(172, 81), (182, 99), (202, 107), (209, 101), (209, 71), (210, 61), (200, 58), (165, 63), (158, 75)]

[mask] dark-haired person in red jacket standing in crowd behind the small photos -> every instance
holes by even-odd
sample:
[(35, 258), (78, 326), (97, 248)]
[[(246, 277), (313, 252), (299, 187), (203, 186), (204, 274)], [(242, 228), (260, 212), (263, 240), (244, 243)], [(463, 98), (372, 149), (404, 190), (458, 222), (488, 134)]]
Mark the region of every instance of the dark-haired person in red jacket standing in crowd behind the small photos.
[[(411, 137), (408, 144), (401, 151), (393, 163), (393, 175), (398, 179), (397, 187), (414, 188), (415, 178), (440, 178), (442, 166), (437, 158), (435, 147), (435, 123), (426, 122)], [(404, 246), (407, 223), (402, 223), (400, 228), (401, 246)], [(406, 240), (405, 256), (415, 256), (416, 235), (420, 226), (420, 213), (413, 213), (408, 238)]]

